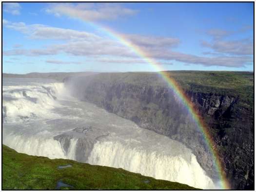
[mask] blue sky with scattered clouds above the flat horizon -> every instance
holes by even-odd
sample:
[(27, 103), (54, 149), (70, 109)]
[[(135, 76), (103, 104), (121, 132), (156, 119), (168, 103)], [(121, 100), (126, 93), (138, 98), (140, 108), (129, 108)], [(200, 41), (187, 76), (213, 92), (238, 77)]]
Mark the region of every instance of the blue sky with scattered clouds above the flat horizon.
[(2, 71), (253, 71), (253, 3), (4, 2)]

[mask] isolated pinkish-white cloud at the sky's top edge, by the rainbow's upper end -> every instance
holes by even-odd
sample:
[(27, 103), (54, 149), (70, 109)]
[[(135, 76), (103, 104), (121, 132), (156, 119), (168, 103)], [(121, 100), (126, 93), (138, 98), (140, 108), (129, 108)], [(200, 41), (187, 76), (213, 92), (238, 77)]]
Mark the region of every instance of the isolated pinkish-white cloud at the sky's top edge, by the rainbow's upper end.
[(85, 21), (114, 20), (119, 17), (133, 16), (138, 10), (121, 7), (113, 3), (58, 3), (45, 9), (46, 13), (57, 17), (68, 16)]

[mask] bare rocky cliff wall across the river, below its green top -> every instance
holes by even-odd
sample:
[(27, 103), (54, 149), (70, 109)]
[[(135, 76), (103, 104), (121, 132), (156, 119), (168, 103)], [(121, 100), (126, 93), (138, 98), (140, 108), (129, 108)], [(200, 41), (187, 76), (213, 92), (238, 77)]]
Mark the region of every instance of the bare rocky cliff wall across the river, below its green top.
[[(67, 78), (64, 82), (79, 99), (181, 141), (193, 150), (207, 174), (217, 178), (202, 132), (187, 106), (164, 83), (149, 83), (147, 79), (143, 82), (143, 78), (140, 83), (121, 79), (99, 81), (94, 77)], [(185, 94), (209, 128), (215, 142), (211, 147), (217, 150), (232, 189), (253, 189), (253, 109), (241, 105), (239, 97), (230, 95), (191, 90)]]

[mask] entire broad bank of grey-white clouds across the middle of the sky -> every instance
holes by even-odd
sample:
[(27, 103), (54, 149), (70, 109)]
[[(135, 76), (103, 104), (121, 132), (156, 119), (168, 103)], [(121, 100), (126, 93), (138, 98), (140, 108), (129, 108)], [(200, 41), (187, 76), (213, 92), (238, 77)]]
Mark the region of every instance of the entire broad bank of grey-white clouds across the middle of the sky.
[[(57, 55), (68, 54), (74, 56), (86, 56), (106, 63), (142, 63), (144, 60), (135, 50), (124, 46), (121, 41), (108, 37), (101, 37), (93, 33), (80, 32), (71, 29), (55, 28), (40, 24), (26, 25), (23, 22), (12, 23), (6, 26), (34, 39), (61, 39), (60, 43), (51, 44), (48, 47), (39, 49), (14, 49), (4, 50), (3, 55)], [(224, 35), (219, 33), (218, 36)], [(215, 34), (217, 35), (217, 34)], [(172, 61), (179, 61), (186, 64), (199, 64), (203, 66), (225, 66), (244, 67), (253, 62), (251, 42), (245, 41), (223, 41), (214, 39), (213, 43), (203, 42), (203, 46), (209, 47), (216, 54), (211, 56), (197, 56), (182, 52), (174, 52), (173, 47), (178, 46), (179, 39), (172, 37), (145, 36), (122, 34), (126, 41), (132, 46), (137, 46), (143, 55), (155, 59), (159, 64), (172, 64)], [(232, 54), (231, 54), (232, 53)], [(228, 55), (227, 55), (228, 54)], [(140, 54), (141, 55), (141, 54)], [(107, 58), (107, 59), (106, 59)], [(109, 59), (111, 58), (111, 59)], [(118, 59), (117, 59), (118, 58)], [(51, 63), (67, 64), (70, 62), (48, 60)], [(49, 62), (49, 63), (50, 63)]]

